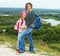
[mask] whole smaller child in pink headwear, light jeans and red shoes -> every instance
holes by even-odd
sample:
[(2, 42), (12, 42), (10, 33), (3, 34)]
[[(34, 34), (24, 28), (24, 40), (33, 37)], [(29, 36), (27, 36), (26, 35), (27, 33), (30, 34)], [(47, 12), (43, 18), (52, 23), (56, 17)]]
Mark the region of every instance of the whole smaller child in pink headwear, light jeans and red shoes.
[(23, 50), (21, 49), (21, 44), (22, 44), (22, 40), (23, 39), (21, 39), (20, 38), (20, 36), (21, 36), (21, 33), (24, 31), (24, 29), (26, 29), (27, 28), (27, 26), (25, 25), (25, 17), (26, 17), (26, 12), (25, 11), (22, 11), (21, 13), (20, 13), (20, 16), (21, 16), (21, 18), (18, 20), (19, 21), (19, 29), (18, 29), (18, 42), (17, 42), (17, 50), (16, 50), (16, 52), (17, 53), (21, 53), (21, 52), (23, 52)]

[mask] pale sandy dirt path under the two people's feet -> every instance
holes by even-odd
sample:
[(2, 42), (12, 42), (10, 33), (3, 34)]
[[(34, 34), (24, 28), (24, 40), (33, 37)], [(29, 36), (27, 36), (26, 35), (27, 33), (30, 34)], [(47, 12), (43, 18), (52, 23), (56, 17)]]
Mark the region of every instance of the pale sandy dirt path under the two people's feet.
[(31, 53), (28, 51), (17, 54), (14, 49), (9, 48), (7, 47), (6, 44), (4, 44), (4, 45), (0, 45), (0, 56), (49, 56), (49, 55), (47, 54), (47, 52)]

